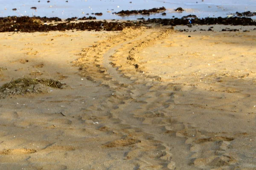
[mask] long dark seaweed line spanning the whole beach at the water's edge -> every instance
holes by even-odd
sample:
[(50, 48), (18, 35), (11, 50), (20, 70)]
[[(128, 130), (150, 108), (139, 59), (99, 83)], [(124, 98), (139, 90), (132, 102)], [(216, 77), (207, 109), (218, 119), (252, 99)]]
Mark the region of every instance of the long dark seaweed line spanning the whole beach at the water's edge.
[[(58, 18), (40, 18), (40, 17), (5, 17), (0, 18), (0, 32), (35, 32), (35, 31), (65, 31), (65, 30), (106, 30), (106, 31), (122, 31), (127, 27), (139, 27), (145, 24), (157, 23), (163, 26), (177, 26), (177, 25), (242, 25), (255, 26), (256, 22), (248, 17), (218, 17), (218, 18), (174, 18), (174, 19), (148, 19), (134, 22), (107, 22), (107, 21), (87, 21), (79, 23), (38, 23), (39, 21), (59, 21)], [(35, 22), (36, 21), (36, 22)]]

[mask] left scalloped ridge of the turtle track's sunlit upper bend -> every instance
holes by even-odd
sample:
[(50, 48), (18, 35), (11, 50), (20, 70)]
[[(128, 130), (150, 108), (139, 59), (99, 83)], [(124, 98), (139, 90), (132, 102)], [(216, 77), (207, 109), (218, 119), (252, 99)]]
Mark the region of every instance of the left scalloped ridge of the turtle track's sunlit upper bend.
[[(86, 77), (90, 81), (103, 82), (104, 80), (111, 80), (115, 77), (108, 74), (107, 68), (102, 61), (105, 58), (103, 55), (106, 51), (110, 50), (109, 52), (111, 52), (111, 48), (114, 48), (120, 43), (125, 43), (140, 36), (143, 34), (143, 32), (145, 32), (144, 29), (145, 28), (139, 28), (136, 31), (134, 31), (132, 28), (124, 29), (118, 35), (110, 36), (107, 40), (99, 41), (92, 47), (84, 48), (82, 53), (77, 54), (80, 56), (80, 58), (74, 61), (73, 64), (80, 67), (79, 74), (82, 77)], [(115, 49), (113, 49), (113, 51), (114, 50)], [(109, 63), (107, 63), (107, 65), (109, 65)], [(122, 80), (126, 81), (125, 78)]]

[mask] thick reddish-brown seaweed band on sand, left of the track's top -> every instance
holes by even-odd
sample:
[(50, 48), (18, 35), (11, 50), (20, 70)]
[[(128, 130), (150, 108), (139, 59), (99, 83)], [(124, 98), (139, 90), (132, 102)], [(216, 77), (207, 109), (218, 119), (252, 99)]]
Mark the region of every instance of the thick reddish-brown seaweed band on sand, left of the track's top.
[[(138, 27), (134, 23), (127, 22), (107, 22), (107, 21), (89, 21), (79, 23), (57, 23), (45, 24), (42, 20), (58, 20), (58, 18), (41, 18), (40, 17), (0, 17), (0, 32), (45, 32), (45, 31), (65, 31), (65, 30), (106, 30), (106, 31), (122, 31), (123, 28)], [(84, 19), (84, 18), (82, 18)], [(104, 27), (102, 27), (104, 26)]]

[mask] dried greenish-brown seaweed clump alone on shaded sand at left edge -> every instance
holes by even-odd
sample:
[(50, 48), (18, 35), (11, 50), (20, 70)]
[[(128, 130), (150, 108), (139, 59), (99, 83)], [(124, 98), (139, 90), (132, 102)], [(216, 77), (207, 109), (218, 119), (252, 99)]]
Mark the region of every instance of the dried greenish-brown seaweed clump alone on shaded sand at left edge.
[(64, 88), (64, 83), (53, 79), (21, 78), (12, 80), (0, 87), (0, 99), (10, 95), (24, 95), (26, 93), (41, 93), (45, 86), (52, 88)]

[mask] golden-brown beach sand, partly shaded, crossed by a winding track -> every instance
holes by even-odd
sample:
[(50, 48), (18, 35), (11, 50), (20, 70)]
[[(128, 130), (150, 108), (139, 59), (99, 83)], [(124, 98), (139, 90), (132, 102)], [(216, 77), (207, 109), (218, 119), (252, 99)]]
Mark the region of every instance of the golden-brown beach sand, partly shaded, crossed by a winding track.
[(256, 30), (214, 27), (0, 33), (0, 85), (68, 85), (0, 99), (0, 169), (256, 169)]

